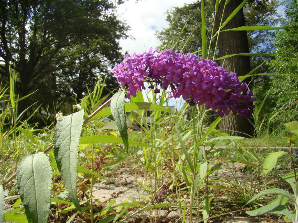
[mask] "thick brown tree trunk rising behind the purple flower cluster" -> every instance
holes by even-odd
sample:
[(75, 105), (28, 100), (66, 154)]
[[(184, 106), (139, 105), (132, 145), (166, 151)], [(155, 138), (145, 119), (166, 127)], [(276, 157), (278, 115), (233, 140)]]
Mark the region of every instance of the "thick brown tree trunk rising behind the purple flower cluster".
[[(218, 29), (223, 14), (225, 1), (221, 1), (215, 18), (215, 28)], [(226, 5), (223, 15), (223, 22), (242, 3), (242, 0), (232, 0)], [(215, 6), (215, 1), (213, 1)], [(245, 26), (243, 8), (224, 26), (224, 29), (232, 29)], [(249, 45), (246, 31), (226, 31), (219, 33), (218, 54), (219, 57), (227, 54), (249, 53)], [(221, 65), (229, 72), (235, 72), (238, 76), (247, 74), (250, 71), (249, 56), (233, 56), (220, 61)], [(250, 80), (246, 79), (249, 83)], [(219, 123), (219, 128), (234, 136), (248, 136), (253, 134), (252, 119), (245, 119), (239, 115), (228, 115)]]

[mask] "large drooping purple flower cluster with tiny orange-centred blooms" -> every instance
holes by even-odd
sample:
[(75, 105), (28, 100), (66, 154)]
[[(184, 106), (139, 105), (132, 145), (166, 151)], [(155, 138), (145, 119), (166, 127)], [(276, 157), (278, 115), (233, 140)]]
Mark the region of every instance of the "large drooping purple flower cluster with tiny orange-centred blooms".
[[(149, 49), (142, 54), (127, 54), (123, 62), (111, 72), (128, 88), (127, 98), (145, 89), (144, 82), (159, 93), (160, 89), (172, 90), (172, 96), (182, 96), (186, 102), (204, 104), (223, 117), (230, 112), (250, 117), (255, 101), (245, 83), (240, 83), (236, 73), (228, 73), (212, 60), (198, 58), (188, 53), (175, 53), (173, 49)], [(155, 87), (153, 86), (155, 83)]]

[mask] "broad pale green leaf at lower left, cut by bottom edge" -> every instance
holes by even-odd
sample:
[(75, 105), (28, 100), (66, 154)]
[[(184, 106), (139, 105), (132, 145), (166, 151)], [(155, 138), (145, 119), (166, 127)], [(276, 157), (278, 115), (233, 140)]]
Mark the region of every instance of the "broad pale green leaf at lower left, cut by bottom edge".
[(17, 170), (17, 185), (28, 222), (48, 222), (51, 183), (49, 158), (43, 152), (22, 159)]

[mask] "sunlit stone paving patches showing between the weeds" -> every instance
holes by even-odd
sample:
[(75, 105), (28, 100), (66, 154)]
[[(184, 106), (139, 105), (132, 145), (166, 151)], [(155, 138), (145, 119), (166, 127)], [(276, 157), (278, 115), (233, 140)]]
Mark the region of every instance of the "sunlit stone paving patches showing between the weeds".
[[(100, 202), (107, 202), (108, 200), (115, 199), (116, 204), (120, 204), (122, 201), (132, 202), (132, 198), (134, 197), (136, 201), (144, 201), (147, 200), (143, 197), (142, 193), (145, 193), (145, 189), (136, 183), (136, 180), (145, 184), (145, 176), (137, 177), (137, 179), (130, 173), (129, 168), (119, 168), (117, 172), (114, 172), (113, 177), (109, 178), (113, 180), (106, 181), (102, 183), (94, 184), (93, 196), (94, 199), (99, 199)], [(222, 174), (226, 176), (230, 176), (230, 172), (226, 169), (219, 169), (218, 172), (215, 172), (214, 175), (219, 176)], [(240, 176), (239, 179), (249, 178), (243, 173), (238, 173)], [(172, 201), (171, 201), (172, 202)], [(173, 200), (173, 203), (175, 201)], [(133, 212), (131, 212), (133, 213)], [(164, 220), (164, 222), (181, 222), (181, 214), (177, 207), (171, 207), (167, 210), (152, 210), (151, 213), (149, 211), (144, 211), (142, 213), (137, 214), (136, 216), (128, 219), (126, 222), (143, 222), (143, 220), (149, 219), (149, 216), (153, 218), (158, 218), (160, 220)], [(186, 217), (187, 219), (187, 217)], [(188, 219), (187, 219), (188, 220)], [(162, 222), (162, 221), (159, 221)], [(187, 222), (187, 221), (186, 221)], [(270, 219), (263, 218), (254, 218), (254, 217), (244, 217), (244, 216), (223, 216), (220, 221), (212, 221), (210, 219), (209, 222), (238, 222), (238, 223), (254, 223), (254, 222), (270, 222)], [(277, 222), (277, 221), (275, 221)]]

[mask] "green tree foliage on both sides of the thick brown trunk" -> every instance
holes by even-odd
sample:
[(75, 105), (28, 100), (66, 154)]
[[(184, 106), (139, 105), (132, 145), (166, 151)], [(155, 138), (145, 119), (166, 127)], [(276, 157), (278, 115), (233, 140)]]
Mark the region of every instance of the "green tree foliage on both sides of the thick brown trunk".
[[(277, 0), (249, 0), (243, 8), (246, 26), (277, 25), (278, 16), (276, 8), (279, 5), (280, 2)], [(204, 7), (207, 43), (209, 43), (214, 19), (212, 0), (205, 0)], [(196, 1), (192, 4), (185, 4), (183, 7), (173, 8), (172, 10), (167, 12), (166, 20), (169, 22), (169, 27), (156, 32), (162, 48), (166, 47), (169, 35), (170, 37), (168, 47), (173, 46), (173, 43), (175, 43), (175, 40), (178, 37), (181, 29), (187, 22), (187, 25), (182, 32), (178, 43), (175, 46), (175, 50), (182, 50), (184, 52), (195, 52), (201, 49), (201, 1)], [(270, 45), (270, 41), (268, 40), (272, 38), (272, 36), (273, 33), (268, 31), (249, 31), (249, 51), (251, 53), (271, 53), (272, 47)], [(214, 47), (214, 39), (212, 41), (213, 42), (211, 46)], [(209, 58), (210, 57), (211, 56), (209, 54)], [(263, 60), (263, 58), (252, 58), (252, 68), (254, 68), (257, 64), (260, 64), (260, 61), (258, 60)]]

